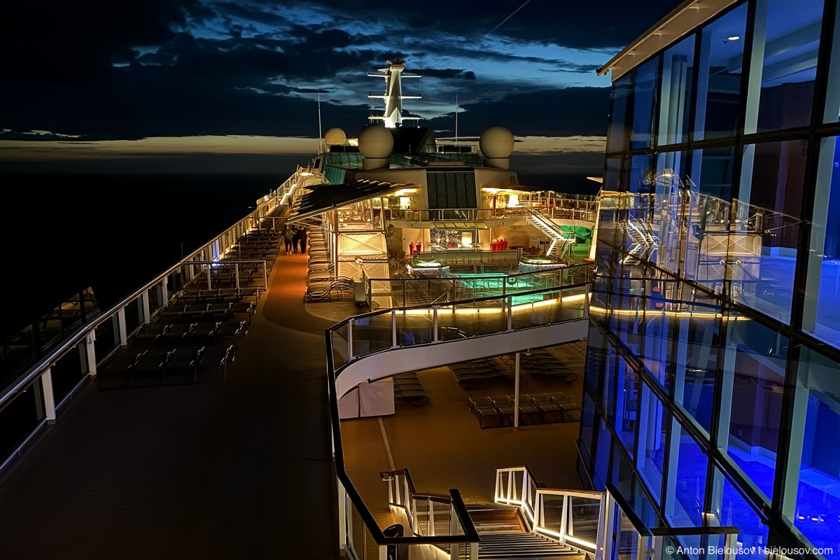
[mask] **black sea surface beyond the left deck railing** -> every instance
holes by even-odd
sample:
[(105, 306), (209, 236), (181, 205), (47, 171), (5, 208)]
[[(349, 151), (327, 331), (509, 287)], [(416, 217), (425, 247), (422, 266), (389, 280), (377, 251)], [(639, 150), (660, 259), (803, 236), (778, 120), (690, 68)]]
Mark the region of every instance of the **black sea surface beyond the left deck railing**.
[(121, 301), (251, 212), (279, 175), (3, 174), (0, 335), (87, 286)]

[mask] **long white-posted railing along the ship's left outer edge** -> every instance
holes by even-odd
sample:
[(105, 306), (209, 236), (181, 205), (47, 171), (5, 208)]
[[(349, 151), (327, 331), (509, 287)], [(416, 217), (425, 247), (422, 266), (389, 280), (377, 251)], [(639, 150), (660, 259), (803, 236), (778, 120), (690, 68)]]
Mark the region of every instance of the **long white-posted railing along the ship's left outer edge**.
[[(57, 421), (62, 407), (97, 374), (134, 333), (149, 323), (176, 297), (178, 290), (197, 276), (207, 274), (226, 250), (245, 233), (278, 219), (280, 201), (297, 185), (302, 169), (256, 201), (256, 208), (234, 225), (173, 264), (155, 279), (87, 322), (56, 344), (0, 394), (0, 471), (7, 468), (48, 423)], [(286, 196), (288, 198), (288, 196)], [(243, 260), (225, 263), (244, 264)], [(253, 263), (254, 261), (247, 261)], [(264, 264), (265, 270), (265, 264)], [(265, 272), (263, 273), (265, 279)], [(238, 275), (236, 276), (238, 278)], [(25, 419), (25, 420), (24, 420)]]

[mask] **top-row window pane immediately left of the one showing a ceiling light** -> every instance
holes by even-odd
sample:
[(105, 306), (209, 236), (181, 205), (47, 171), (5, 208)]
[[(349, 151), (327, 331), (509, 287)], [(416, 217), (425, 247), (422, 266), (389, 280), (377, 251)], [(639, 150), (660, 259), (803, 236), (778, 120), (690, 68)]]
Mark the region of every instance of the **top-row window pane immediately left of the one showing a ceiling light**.
[(662, 93), (659, 101), (659, 139), (662, 144), (688, 140), (688, 112), (694, 72), (694, 40), (690, 35), (666, 50), (662, 59)]

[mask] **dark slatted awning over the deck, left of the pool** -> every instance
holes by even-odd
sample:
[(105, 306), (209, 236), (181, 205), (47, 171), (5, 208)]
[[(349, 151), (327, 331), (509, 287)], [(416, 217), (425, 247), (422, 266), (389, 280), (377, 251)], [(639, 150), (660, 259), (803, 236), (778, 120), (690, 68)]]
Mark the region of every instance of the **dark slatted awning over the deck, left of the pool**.
[(297, 198), (295, 207), (286, 218), (286, 223), (298, 222), (334, 208), (340, 208), (366, 201), (377, 196), (385, 196), (402, 189), (417, 188), (417, 185), (403, 183), (386, 183), (382, 181), (360, 180), (339, 185), (313, 185), (310, 192)]

